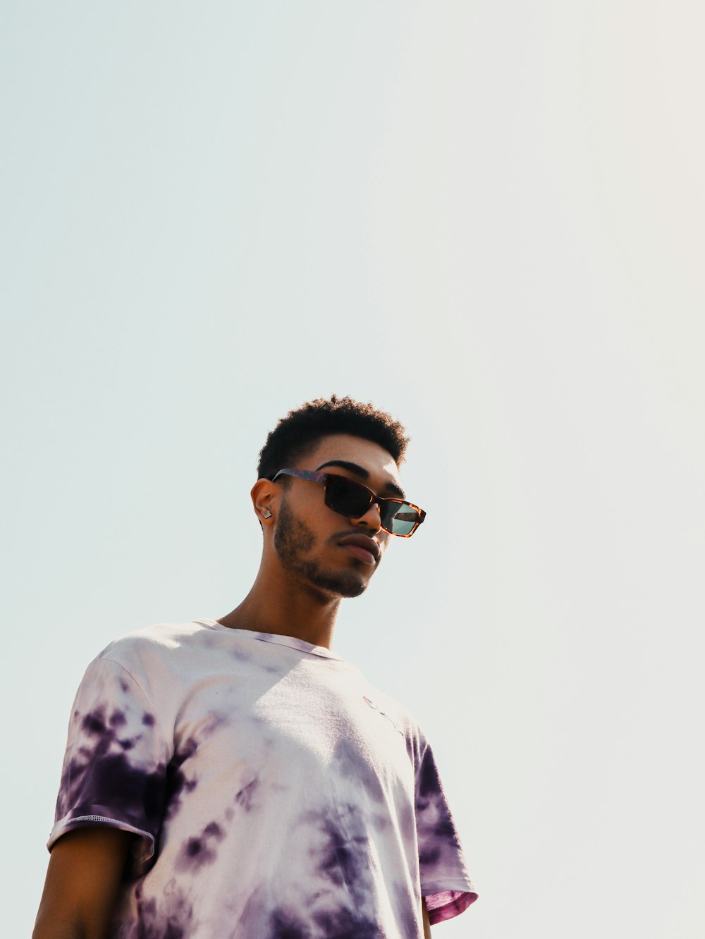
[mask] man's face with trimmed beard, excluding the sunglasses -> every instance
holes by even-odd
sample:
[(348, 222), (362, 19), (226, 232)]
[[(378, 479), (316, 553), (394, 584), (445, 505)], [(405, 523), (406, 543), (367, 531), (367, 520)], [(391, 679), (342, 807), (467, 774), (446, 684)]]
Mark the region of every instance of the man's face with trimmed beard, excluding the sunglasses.
[[(379, 496), (402, 495), (391, 454), (377, 443), (347, 434), (322, 439), (314, 452), (301, 458), (293, 469), (334, 472), (366, 485)], [(274, 549), (280, 562), (318, 590), (359, 596), (366, 590), (391, 537), (379, 526), (379, 510), (373, 505), (360, 518), (341, 516), (325, 504), (323, 485), (287, 479), (287, 488), (282, 485), (280, 489), (274, 528)], [(355, 544), (357, 541), (360, 544)]]

